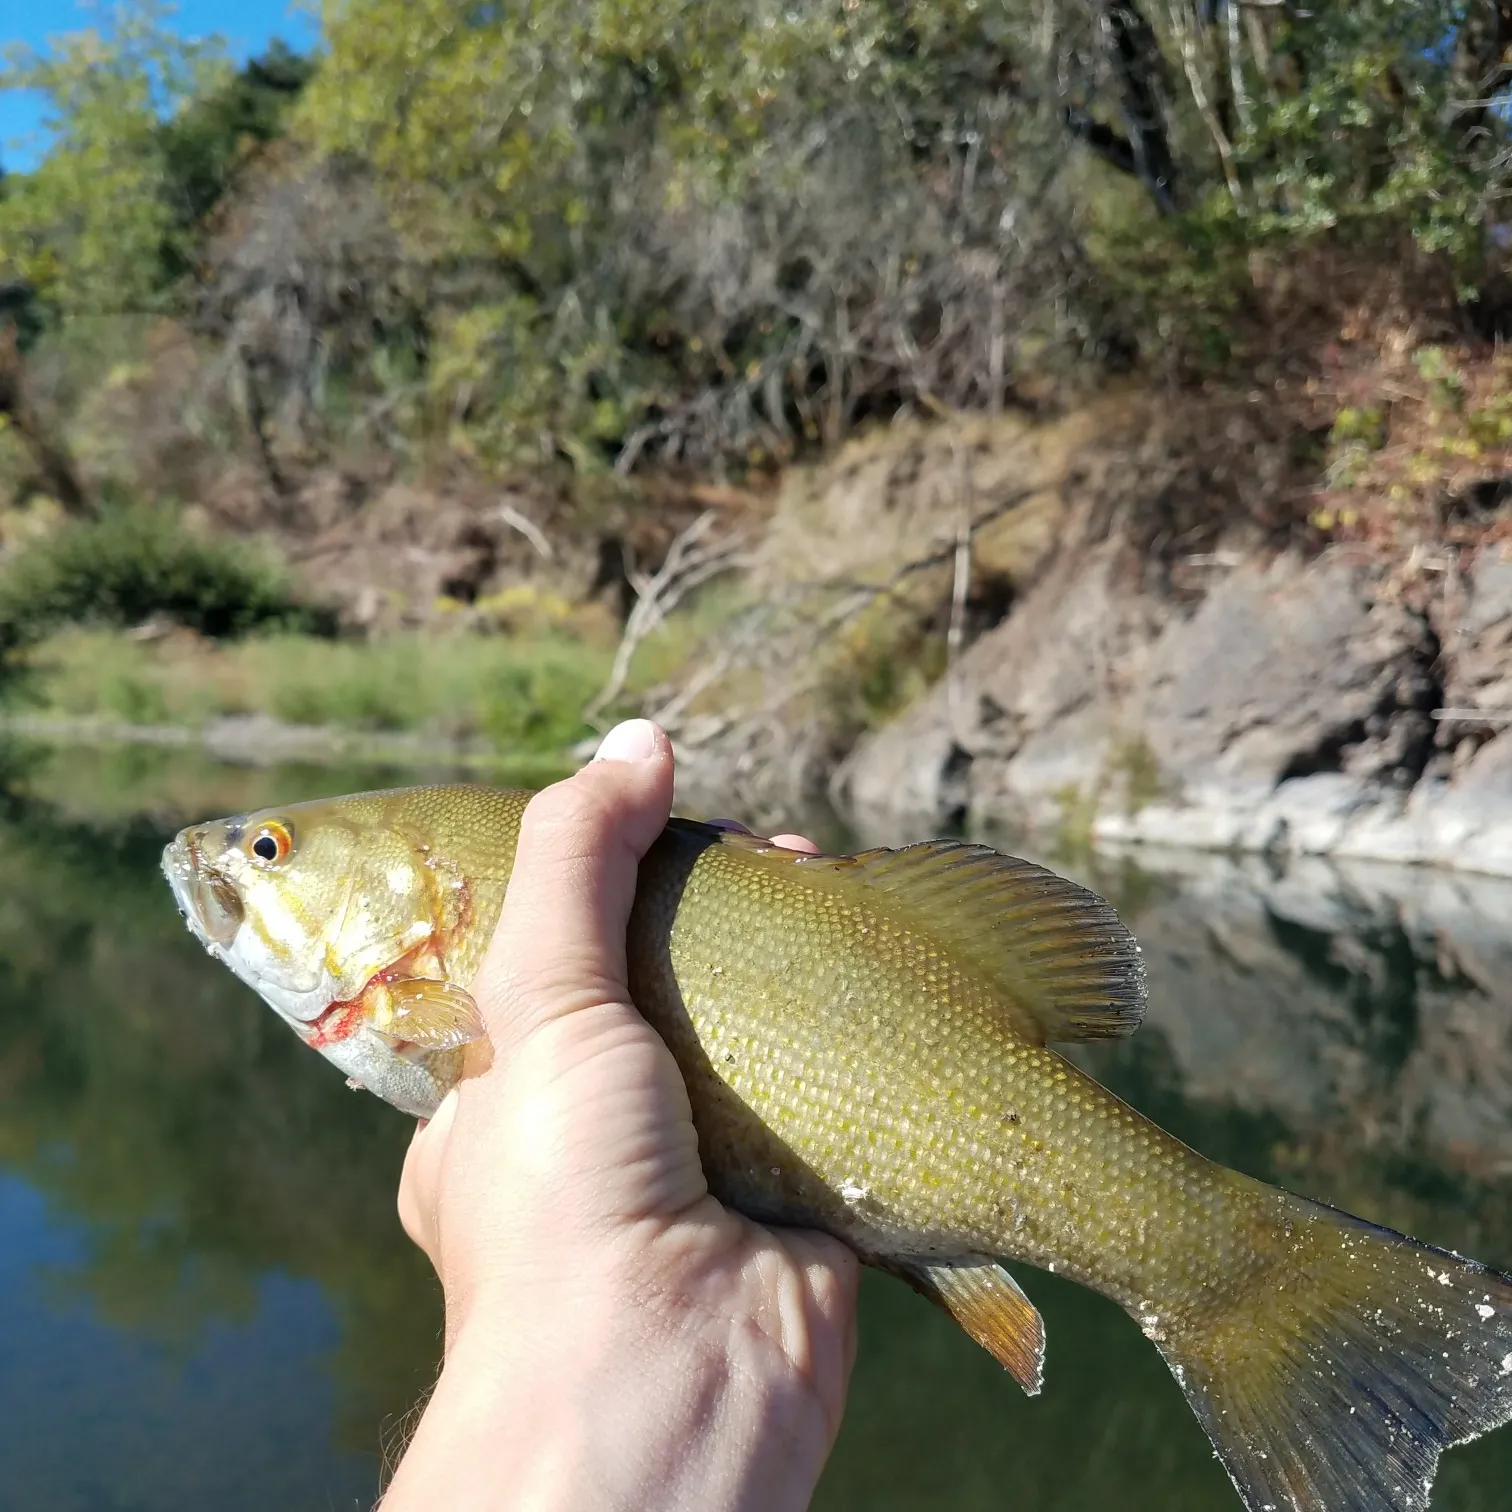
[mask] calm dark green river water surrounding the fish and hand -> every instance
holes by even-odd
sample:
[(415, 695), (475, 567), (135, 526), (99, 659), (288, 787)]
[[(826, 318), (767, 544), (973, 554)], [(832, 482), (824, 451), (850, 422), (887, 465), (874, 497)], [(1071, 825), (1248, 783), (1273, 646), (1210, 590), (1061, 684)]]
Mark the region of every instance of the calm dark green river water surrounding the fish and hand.
[[(367, 1509), (440, 1309), (393, 1216), (407, 1120), (189, 937), (157, 875), (187, 818), (380, 771), (150, 751), (0, 756), (0, 1506)], [(894, 839), (901, 836), (891, 836)], [(1149, 960), (1149, 1022), (1087, 1064), (1229, 1164), (1512, 1269), (1512, 883), (1066, 856)], [(824, 1512), (1234, 1512), (1154, 1349), (1024, 1275), (1024, 1399), (900, 1284), (862, 1288)], [(1433, 1506), (1507, 1512), (1512, 1429)]]

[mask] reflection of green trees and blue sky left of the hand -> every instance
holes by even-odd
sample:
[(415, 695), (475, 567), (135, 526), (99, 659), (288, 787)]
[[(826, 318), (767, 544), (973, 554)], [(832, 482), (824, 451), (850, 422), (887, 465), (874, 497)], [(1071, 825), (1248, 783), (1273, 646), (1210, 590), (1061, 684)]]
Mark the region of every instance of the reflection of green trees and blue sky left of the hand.
[[(26, 1424), (45, 1411), (80, 1424), (54, 1435), (59, 1450), (95, 1450), (97, 1476), (142, 1486), (80, 1506), (366, 1506), (381, 1426), (425, 1387), (438, 1337), (429, 1269), (393, 1217), (408, 1131), (204, 956), (162, 886), (162, 841), (151, 824), (88, 824), (0, 792), (0, 1175), (41, 1193), (50, 1219), (0, 1226), (0, 1253), (27, 1278), (11, 1305), (116, 1338), (86, 1361), (59, 1356), (56, 1328), (0, 1335), (8, 1497)], [(281, 1349), (307, 1364), (286, 1358), (275, 1374)], [(249, 1364), (259, 1350), (266, 1368)], [(219, 1370), (219, 1396), (197, 1390), (198, 1415), (180, 1421), (154, 1414), (165, 1359), (194, 1377)], [(115, 1371), (118, 1423), (92, 1441), (101, 1370)], [(292, 1411), (301, 1402), (308, 1415)], [(191, 1495), (183, 1461), (218, 1442), (225, 1458), (207, 1459)], [(168, 1479), (144, 1468), (169, 1461)], [(299, 1467), (302, 1491), (284, 1494)], [(53, 1491), (6, 1501), (60, 1504)]]

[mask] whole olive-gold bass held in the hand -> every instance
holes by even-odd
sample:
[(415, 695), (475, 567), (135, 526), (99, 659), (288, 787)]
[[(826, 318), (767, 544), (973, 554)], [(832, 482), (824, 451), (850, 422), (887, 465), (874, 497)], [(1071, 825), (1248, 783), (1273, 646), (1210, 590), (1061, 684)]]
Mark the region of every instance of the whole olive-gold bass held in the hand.
[[(428, 1117), (485, 1030), (470, 984), (526, 792), (426, 786), (183, 830), (191, 930), (352, 1086)], [(686, 1081), (712, 1193), (823, 1229), (1034, 1394), (1007, 1269), (1120, 1303), (1247, 1512), (1418, 1512), (1512, 1418), (1512, 1279), (1173, 1139), (1057, 1045), (1139, 1028), (1139, 943), (1084, 888), (966, 841), (810, 856), (671, 820), (631, 995)]]

